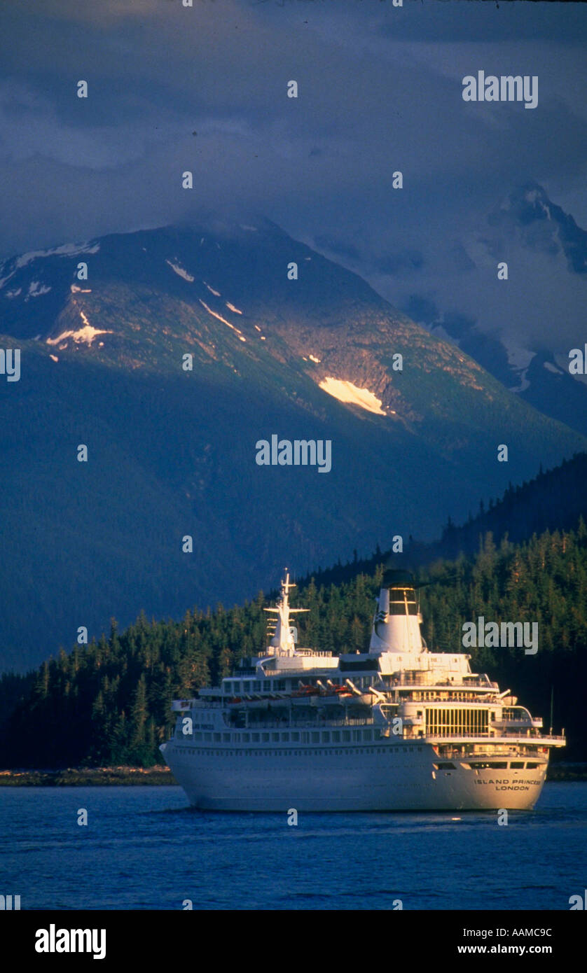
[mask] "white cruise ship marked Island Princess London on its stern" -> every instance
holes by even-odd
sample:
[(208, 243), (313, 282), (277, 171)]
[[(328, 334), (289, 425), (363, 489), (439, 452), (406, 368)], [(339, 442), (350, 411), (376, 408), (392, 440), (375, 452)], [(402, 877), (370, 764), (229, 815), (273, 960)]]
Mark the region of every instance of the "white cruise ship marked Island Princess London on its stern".
[(297, 645), (289, 574), (268, 646), (219, 687), (176, 700), (161, 751), (190, 803), (218, 811), (532, 809), (551, 747), (542, 720), (471, 672), (470, 656), (431, 652), (418, 586), (387, 571), (369, 650)]

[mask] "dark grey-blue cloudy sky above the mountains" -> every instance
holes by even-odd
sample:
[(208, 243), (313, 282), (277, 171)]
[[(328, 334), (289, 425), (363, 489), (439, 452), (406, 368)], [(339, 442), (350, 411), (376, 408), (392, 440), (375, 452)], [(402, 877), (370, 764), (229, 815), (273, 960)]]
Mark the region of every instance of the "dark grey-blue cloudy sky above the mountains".
[[(0, 260), (263, 214), (397, 306), (564, 350), (586, 276), (511, 236), (504, 305), (487, 220), (535, 182), (587, 229), (586, 43), (580, 4), (2, 0)], [(481, 69), (537, 76), (537, 107), (464, 102)]]

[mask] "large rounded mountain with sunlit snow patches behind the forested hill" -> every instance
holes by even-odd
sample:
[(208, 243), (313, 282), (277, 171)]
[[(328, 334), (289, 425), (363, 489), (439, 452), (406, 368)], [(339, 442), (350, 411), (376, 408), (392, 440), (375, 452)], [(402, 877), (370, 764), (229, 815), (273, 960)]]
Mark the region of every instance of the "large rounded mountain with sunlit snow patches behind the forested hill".
[[(272, 587), (284, 563), (432, 536), (471, 497), (587, 448), (266, 221), (13, 258), (0, 321), (21, 352), (0, 383), (4, 668), (111, 614), (180, 617)], [(258, 465), (272, 435), (330, 441), (331, 471)]]

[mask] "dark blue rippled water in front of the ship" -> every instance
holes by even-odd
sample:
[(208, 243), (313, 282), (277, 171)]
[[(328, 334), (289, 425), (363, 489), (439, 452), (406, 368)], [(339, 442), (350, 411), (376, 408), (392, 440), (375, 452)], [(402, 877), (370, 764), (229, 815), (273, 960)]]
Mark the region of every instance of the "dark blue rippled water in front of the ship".
[[(88, 810), (87, 827), (77, 811)], [(587, 783), (485, 813), (193, 811), (179, 787), (0, 788), (0, 892), (22, 909), (569, 909)]]

